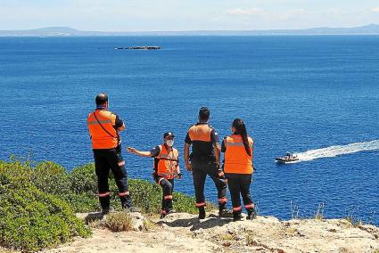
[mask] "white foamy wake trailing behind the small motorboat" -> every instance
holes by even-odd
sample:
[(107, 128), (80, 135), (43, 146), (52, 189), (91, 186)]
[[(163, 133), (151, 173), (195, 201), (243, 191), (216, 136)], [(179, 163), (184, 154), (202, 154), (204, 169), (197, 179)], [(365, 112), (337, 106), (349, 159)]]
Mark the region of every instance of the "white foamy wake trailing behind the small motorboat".
[(357, 153), (360, 151), (376, 151), (379, 150), (379, 140), (366, 142), (366, 143), (350, 143), (347, 145), (331, 146), (324, 149), (305, 151), (296, 153), (299, 160), (307, 161), (312, 159), (331, 158), (346, 154)]

